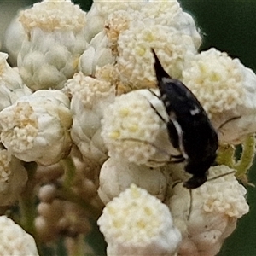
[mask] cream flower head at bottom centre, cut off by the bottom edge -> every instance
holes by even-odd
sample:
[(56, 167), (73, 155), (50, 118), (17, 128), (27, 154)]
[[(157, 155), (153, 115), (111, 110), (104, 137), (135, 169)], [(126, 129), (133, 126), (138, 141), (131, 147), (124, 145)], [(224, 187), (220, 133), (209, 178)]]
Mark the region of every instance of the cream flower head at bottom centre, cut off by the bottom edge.
[(103, 209), (98, 225), (110, 255), (177, 255), (180, 232), (168, 207), (131, 184)]

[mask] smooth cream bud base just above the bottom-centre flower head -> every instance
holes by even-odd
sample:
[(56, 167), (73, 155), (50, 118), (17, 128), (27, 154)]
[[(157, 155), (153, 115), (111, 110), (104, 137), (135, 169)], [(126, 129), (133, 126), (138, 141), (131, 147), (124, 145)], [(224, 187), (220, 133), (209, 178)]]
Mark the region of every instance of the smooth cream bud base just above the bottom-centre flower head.
[(166, 196), (168, 177), (163, 169), (137, 166), (127, 163), (125, 160), (109, 158), (102, 166), (100, 172), (100, 187), (98, 195), (104, 204), (113, 200), (122, 191), (128, 189), (131, 183), (135, 183), (142, 189), (147, 189), (150, 195), (154, 195), (163, 201)]

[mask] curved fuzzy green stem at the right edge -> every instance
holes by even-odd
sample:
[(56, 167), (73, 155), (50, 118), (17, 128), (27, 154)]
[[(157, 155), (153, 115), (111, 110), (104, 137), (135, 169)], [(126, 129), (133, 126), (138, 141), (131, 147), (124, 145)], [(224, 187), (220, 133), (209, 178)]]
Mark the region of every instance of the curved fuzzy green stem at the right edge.
[(254, 135), (248, 136), (246, 141), (242, 144), (241, 158), (234, 166), (237, 178), (246, 177), (248, 170), (253, 165), (255, 144)]

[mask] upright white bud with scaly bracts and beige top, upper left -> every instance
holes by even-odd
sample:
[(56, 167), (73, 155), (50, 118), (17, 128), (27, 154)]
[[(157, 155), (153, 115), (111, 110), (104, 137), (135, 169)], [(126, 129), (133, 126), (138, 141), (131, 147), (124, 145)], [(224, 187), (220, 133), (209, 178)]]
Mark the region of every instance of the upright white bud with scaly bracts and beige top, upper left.
[(18, 56), (20, 75), (32, 90), (61, 89), (77, 71), (87, 46), (85, 13), (71, 1), (47, 0), (20, 12), (29, 35)]

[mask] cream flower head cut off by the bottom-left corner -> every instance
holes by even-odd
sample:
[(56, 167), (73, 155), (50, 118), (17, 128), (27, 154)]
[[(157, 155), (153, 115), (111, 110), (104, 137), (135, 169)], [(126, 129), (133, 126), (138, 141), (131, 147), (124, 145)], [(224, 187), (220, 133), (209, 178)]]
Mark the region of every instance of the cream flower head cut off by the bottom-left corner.
[(0, 251), (2, 255), (38, 256), (36, 243), (31, 235), (6, 216), (0, 217)]

